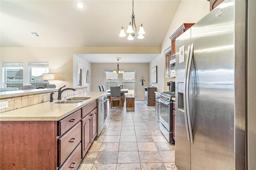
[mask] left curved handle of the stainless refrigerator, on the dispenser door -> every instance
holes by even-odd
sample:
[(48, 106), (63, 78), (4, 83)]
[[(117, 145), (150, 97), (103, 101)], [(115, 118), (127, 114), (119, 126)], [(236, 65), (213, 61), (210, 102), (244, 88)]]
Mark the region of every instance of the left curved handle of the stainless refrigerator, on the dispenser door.
[(189, 130), (188, 130), (188, 117), (187, 117), (187, 108), (186, 108), (186, 81), (187, 81), (187, 74), (188, 74), (188, 60), (189, 60), (189, 55), (190, 55), (190, 45), (188, 46), (188, 53), (186, 57), (186, 66), (185, 66), (185, 75), (184, 75), (184, 93), (183, 93), (183, 106), (184, 106), (184, 116), (185, 116), (185, 124), (186, 124), (186, 131), (187, 131), (187, 137), (188, 141), (190, 141), (190, 136), (189, 136)]

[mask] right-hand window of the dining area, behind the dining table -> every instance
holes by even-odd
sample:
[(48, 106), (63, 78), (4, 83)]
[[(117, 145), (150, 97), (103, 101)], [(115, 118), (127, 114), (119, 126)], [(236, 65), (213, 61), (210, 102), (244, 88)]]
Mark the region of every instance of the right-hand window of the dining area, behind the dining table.
[(124, 69), (122, 84), (123, 88), (128, 88), (127, 94), (135, 95), (135, 69)]

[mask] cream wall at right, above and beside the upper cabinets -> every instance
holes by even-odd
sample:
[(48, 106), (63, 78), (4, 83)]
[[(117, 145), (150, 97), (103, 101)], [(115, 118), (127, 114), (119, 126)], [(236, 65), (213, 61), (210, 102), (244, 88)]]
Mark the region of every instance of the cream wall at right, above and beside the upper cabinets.
[[(169, 37), (182, 25), (182, 23), (196, 23), (210, 12), (210, 4), (206, 0), (182, 0), (166, 33), (161, 46), (161, 54), (154, 59), (149, 67), (158, 66), (158, 83), (153, 84), (160, 92), (168, 91), (167, 81), (173, 78), (165, 78), (165, 57), (164, 51), (171, 45)], [(149, 70), (150, 71), (150, 70)]]

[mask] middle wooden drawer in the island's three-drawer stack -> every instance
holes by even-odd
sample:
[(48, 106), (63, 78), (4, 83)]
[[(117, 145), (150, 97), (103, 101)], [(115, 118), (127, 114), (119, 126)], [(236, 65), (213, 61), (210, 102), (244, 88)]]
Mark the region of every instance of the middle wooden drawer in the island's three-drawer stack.
[[(60, 166), (81, 142), (81, 122), (58, 139), (58, 165)], [(80, 152), (81, 153), (81, 152)], [(81, 157), (81, 155), (80, 155)]]

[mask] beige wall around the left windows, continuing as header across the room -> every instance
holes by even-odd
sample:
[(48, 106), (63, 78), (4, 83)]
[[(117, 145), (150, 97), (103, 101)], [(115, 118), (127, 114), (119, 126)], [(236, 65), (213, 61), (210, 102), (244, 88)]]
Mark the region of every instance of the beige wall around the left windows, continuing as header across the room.
[[(29, 84), (28, 62), (49, 62), (49, 72), (56, 80), (50, 84), (57, 87), (73, 86), (73, 54), (159, 54), (160, 47), (1, 47), (0, 87), (2, 84), (2, 62), (24, 63), (24, 85)], [(93, 77), (91, 76), (91, 80)], [(91, 84), (93, 85), (93, 84)]]

